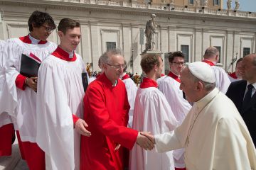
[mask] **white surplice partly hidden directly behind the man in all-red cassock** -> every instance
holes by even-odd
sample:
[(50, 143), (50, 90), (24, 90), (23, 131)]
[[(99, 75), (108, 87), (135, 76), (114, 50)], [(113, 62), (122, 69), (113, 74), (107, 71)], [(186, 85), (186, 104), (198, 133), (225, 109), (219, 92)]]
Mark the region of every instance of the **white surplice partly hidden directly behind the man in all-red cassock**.
[(134, 81), (131, 78), (122, 80), (125, 84), (125, 89), (127, 89), (127, 96), (128, 96), (128, 102), (129, 102), (129, 121), (128, 121), (128, 127), (132, 128), (132, 119), (133, 119), (133, 113), (134, 113), (134, 102), (137, 94), (138, 87), (134, 83)]

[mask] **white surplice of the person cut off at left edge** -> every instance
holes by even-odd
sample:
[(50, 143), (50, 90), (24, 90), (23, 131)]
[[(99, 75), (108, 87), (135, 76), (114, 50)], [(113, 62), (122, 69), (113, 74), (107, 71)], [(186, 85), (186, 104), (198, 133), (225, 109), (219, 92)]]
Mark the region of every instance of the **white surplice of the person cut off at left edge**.
[[(0, 40), (0, 98), (6, 100), (4, 97), (6, 93), (6, 79), (4, 73), (4, 64), (3, 64), (3, 52), (4, 52), (5, 41)], [(2, 96), (2, 97), (1, 97)], [(4, 101), (0, 101), (0, 128), (4, 125), (11, 123), (11, 117), (6, 112), (6, 105)]]

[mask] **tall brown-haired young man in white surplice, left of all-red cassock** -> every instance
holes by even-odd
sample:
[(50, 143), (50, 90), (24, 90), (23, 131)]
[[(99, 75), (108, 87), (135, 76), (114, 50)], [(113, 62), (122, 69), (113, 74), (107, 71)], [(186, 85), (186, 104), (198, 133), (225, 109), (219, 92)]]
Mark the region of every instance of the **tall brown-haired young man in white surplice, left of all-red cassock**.
[(81, 38), (79, 21), (63, 18), (58, 35), (60, 45), (38, 72), (36, 142), (45, 152), (46, 169), (79, 169), (80, 134), (90, 136), (81, 119), (86, 70), (82, 57), (75, 53)]

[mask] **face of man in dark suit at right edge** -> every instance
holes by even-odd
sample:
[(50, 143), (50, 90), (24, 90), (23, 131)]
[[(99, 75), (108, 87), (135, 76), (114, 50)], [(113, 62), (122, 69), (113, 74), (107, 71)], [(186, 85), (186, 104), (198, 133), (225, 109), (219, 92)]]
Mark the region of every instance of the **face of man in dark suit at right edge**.
[(242, 60), (241, 74), (242, 79), (247, 81), (253, 81), (256, 79), (256, 66), (253, 64), (253, 60), (256, 55), (247, 55)]

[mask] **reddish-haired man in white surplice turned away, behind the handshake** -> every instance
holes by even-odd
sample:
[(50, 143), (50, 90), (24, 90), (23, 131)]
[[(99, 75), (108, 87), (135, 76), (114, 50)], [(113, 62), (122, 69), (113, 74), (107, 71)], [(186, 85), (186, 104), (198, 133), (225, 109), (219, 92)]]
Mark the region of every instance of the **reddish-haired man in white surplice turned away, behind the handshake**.
[[(146, 54), (141, 61), (143, 72), (146, 73), (137, 91), (134, 104), (132, 128), (153, 134), (172, 131), (178, 125), (174, 113), (164, 95), (159, 91), (156, 79), (161, 77), (163, 61), (160, 55)], [(147, 152), (134, 146), (129, 157), (130, 170), (174, 170), (172, 152), (159, 154), (156, 149)]]

